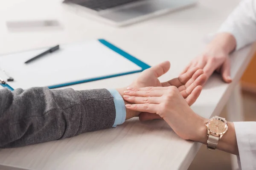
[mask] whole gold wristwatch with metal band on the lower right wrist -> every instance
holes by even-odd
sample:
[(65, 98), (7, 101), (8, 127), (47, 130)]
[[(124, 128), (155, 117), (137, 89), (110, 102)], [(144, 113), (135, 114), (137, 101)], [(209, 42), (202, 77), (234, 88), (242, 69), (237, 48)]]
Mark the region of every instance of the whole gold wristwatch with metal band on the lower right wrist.
[(218, 141), (221, 140), (221, 137), (227, 132), (227, 121), (222, 117), (213, 116), (205, 125), (207, 127), (208, 136), (207, 148), (209, 150), (215, 150), (218, 145)]

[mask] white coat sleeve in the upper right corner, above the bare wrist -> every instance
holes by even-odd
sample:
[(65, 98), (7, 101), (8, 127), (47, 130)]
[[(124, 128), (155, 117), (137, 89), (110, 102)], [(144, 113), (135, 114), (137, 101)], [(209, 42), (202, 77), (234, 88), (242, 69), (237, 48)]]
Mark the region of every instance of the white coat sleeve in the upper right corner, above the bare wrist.
[(233, 34), (236, 50), (256, 41), (256, 0), (243, 0), (239, 3), (218, 30)]

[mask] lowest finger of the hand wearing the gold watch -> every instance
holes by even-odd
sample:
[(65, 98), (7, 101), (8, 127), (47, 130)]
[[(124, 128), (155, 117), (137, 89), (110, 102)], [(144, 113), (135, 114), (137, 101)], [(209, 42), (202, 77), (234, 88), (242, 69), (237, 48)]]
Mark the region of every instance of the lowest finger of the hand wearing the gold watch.
[(149, 112), (149, 113), (156, 113), (157, 112), (157, 104), (133, 104), (133, 105), (125, 105), (126, 108), (133, 110), (133, 111), (140, 111), (140, 112)]

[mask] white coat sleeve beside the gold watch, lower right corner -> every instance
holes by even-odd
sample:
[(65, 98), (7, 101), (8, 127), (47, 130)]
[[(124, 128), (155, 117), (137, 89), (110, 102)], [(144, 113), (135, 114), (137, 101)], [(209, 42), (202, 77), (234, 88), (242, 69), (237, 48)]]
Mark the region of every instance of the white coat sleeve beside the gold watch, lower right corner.
[(256, 122), (234, 122), (242, 170), (256, 170)]

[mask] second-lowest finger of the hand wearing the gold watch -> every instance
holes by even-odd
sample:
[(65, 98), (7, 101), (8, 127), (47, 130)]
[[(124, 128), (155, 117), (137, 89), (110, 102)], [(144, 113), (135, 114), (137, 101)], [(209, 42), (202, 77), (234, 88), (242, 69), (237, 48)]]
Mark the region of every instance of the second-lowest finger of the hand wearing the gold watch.
[(161, 102), (160, 97), (137, 97), (137, 96), (124, 95), (124, 99), (127, 102), (134, 103), (134, 104), (143, 104), (143, 103), (159, 104)]

